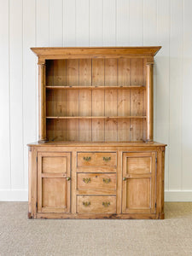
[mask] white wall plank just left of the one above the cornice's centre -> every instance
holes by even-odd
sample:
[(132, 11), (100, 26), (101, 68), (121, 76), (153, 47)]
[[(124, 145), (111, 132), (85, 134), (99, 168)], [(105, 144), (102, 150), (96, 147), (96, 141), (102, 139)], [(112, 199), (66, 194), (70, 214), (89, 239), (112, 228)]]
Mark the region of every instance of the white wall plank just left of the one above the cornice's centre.
[(76, 45), (90, 44), (89, 0), (76, 1)]

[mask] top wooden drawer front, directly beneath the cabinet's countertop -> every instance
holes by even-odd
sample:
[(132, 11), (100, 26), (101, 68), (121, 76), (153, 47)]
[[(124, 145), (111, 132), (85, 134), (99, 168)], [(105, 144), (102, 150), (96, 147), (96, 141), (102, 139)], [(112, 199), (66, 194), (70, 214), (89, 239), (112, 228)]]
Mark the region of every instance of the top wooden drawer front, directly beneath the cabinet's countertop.
[(78, 166), (117, 166), (115, 152), (81, 152), (78, 153)]

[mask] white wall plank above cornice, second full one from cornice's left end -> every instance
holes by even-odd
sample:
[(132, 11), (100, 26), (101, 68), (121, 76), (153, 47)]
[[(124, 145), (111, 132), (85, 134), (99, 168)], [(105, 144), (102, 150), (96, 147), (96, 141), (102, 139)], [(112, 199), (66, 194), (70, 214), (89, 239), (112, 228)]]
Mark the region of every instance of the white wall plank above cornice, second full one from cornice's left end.
[(63, 45), (63, 3), (62, 0), (49, 0), (49, 46)]

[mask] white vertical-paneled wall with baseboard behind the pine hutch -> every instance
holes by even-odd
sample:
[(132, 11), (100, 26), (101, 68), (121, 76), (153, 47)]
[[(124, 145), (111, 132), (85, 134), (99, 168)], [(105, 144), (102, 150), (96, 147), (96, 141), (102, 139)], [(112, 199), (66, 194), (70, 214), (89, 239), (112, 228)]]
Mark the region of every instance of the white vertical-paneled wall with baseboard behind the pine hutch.
[(166, 201), (192, 201), (192, 1), (0, 0), (0, 201), (27, 200), (38, 138), (34, 46), (161, 45), (154, 139), (167, 143)]

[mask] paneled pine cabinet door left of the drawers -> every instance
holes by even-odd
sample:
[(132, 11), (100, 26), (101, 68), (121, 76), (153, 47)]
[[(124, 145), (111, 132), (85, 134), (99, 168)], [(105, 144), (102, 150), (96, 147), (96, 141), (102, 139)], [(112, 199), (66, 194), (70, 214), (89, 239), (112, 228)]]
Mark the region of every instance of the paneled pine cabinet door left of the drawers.
[(70, 212), (70, 153), (38, 153), (38, 212)]

